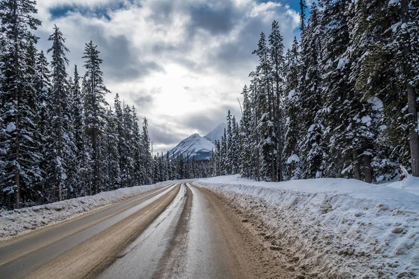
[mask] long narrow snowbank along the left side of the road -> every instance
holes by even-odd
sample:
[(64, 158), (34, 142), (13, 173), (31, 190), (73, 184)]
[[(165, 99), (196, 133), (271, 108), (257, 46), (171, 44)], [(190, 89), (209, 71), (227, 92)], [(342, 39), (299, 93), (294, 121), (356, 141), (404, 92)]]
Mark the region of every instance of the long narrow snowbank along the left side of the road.
[(162, 188), (168, 182), (156, 183), (147, 186), (120, 188), (109, 192), (98, 193), (87, 197), (66, 199), (61, 202), (32, 206), (24, 209), (0, 212), (0, 241), (29, 232), (38, 227), (52, 225), (70, 218), (78, 217), (94, 209), (108, 206), (135, 195), (140, 195), (149, 190)]

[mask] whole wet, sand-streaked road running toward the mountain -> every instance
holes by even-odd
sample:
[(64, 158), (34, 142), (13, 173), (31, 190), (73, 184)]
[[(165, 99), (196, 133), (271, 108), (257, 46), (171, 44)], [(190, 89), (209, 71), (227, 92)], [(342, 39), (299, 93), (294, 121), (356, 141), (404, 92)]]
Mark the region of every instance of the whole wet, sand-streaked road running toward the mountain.
[(288, 278), (221, 199), (159, 189), (0, 244), (0, 278)]

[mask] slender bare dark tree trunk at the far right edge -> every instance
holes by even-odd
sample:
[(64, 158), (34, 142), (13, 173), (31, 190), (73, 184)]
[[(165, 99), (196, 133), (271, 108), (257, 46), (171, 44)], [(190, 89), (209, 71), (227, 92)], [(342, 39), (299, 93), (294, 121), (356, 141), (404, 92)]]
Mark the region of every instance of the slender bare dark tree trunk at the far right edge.
[[(402, 22), (409, 23), (409, 1), (402, 0), (401, 2)], [(409, 34), (407, 35), (409, 36)], [(406, 42), (406, 43), (404, 43)], [(406, 60), (409, 60), (411, 54), (411, 43), (409, 38), (403, 42), (403, 53)], [(419, 135), (418, 135), (418, 94), (416, 89), (411, 85), (411, 66), (409, 61), (404, 61), (404, 78), (407, 91), (407, 107), (409, 111), (409, 145), (411, 150), (411, 165), (413, 176), (419, 176)]]

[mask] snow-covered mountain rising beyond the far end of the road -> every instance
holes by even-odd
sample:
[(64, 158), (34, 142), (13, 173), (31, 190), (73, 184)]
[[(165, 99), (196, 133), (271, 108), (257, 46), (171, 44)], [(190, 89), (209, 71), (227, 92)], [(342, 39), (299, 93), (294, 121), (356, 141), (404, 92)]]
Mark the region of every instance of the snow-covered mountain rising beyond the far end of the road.
[(215, 140), (221, 140), (221, 136), (224, 133), (224, 128), (226, 127), (225, 123), (221, 123), (219, 126), (216, 126), (214, 130), (201, 137), (198, 134), (193, 134), (186, 139), (182, 140), (177, 146), (173, 149), (170, 149), (170, 157), (175, 154), (175, 157), (178, 154), (183, 154), (184, 156), (189, 156), (189, 158), (195, 158), (195, 160), (208, 160), (211, 156), (211, 151), (215, 151)]

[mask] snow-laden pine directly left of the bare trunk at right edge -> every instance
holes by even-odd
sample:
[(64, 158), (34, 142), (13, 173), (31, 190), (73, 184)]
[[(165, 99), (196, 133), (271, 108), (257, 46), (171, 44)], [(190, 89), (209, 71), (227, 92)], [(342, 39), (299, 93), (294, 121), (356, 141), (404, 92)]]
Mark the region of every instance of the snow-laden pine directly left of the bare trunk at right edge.
[[(373, 164), (377, 176), (394, 177), (400, 163), (409, 165), (409, 132), (407, 127), (406, 86), (399, 82), (402, 69), (398, 68), (399, 47), (394, 33), (402, 23), (399, 5), (382, 1), (351, 3), (351, 47), (353, 64), (351, 79), (355, 91), (362, 98), (372, 99), (374, 105), (383, 102), (383, 119), (378, 128), (381, 133), (374, 144)], [(400, 65), (400, 64), (399, 64)], [(373, 105), (373, 104), (372, 104)], [(381, 105), (382, 106), (382, 105)], [(372, 132), (376, 133), (376, 132)], [(367, 158), (368, 159), (368, 158)]]

